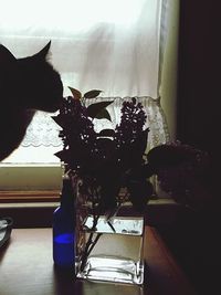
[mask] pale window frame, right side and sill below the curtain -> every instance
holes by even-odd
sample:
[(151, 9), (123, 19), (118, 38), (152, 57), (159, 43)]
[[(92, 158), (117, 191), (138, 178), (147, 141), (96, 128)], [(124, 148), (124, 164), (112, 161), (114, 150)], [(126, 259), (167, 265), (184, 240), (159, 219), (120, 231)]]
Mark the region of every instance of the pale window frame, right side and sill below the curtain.
[[(166, 113), (166, 117), (168, 118), (168, 126), (171, 134), (171, 139), (176, 136), (176, 85), (177, 85), (177, 50), (178, 50), (178, 21), (179, 21), (179, 1), (175, 1), (170, 11), (169, 23), (168, 23), (168, 42), (165, 52), (165, 65), (162, 69), (162, 81), (161, 81), (161, 96), (162, 107)], [(8, 166), (8, 168), (7, 168)], [(31, 202), (34, 206), (35, 202), (51, 202), (59, 201), (59, 193), (61, 189), (62, 181), (62, 172), (59, 173), (60, 179), (55, 177), (55, 179), (49, 180), (48, 185), (44, 182), (41, 186), (34, 186), (33, 181), (40, 181), (43, 179), (43, 176), (48, 173), (50, 178), (54, 176), (52, 166), (60, 167), (59, 164), (50, 165), (4, 165), (0, 164), (0, 206), (1, 203), (27, 203)], [(52, 170), (48, 170), (48, 167), (51, 167)], [(3, 168), (3, 169), (2, 169)], [(7, 181), (7, 177), (11, 177), (13, 173), (13, 169), (28, 169), (27, 175), (30, 177), (33, 187), (29, 186), (22, 187), (6, 187), (2, 183)], [(41, 168), (41, 169), (40, 169)], [(11, 170), (10, 170), (11, 169)], [(29, 170), (30, 169), (30, 170)], [(50, 168), (49, 168), (50, 169)], [(3, 171), (4, 170), (4, 171)], [(38, 170), (38, 171), (33, 171)], [(56, 170), (56, 168), (55, 168)], [(51, 171), (51, 172), (50, 172)], [(2, 173), (4, 178), (2, 178)], [(17, 181), (20, 181), (21, 173), (18, 173)], [(50, 179), (49, 178), (49, 179)], [(52, 181), (52, 182), (50, 182)], [(50, 185), (51, 183), (51, 185)], [(53, 183), (53, 185), (52, 185)], [(159, 197), (160, 198), (160, 197)]]

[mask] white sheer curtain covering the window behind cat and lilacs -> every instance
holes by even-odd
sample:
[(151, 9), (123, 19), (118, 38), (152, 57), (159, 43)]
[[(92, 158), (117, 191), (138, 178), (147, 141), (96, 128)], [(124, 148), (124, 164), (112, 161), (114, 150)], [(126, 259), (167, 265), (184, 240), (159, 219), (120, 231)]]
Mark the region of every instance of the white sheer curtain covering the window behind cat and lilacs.
[[(52, 41), (50, 61), (61, 73), (64, 95), (71, 94), (67, 86), (102, 89), (115, 101), (108, 107), (113, 126), (123, 99), (136, 96), (147, 112), (148, 146), (169, 139), (159, 93), (169, 0), (0, 0), (0, 43), (17, 57)], [(36, 161), (54, 161), (50, 155), (62, 145), (57, 133), (51, 115), (39, 112), (6, 161), (20, 161), (22, 155), (29, 161), (27, 151), (30, 161), (34, 154)]]

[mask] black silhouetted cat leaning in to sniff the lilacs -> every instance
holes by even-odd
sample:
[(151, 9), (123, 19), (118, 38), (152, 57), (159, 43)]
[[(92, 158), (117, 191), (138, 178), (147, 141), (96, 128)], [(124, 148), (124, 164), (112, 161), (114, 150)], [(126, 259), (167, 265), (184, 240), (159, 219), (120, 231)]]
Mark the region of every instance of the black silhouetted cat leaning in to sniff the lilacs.
[(36, 110), (56, 112), (63, 98), (59, 72), (48, 61), (51, 41), (15, 59), (0, 44), (0, 161), (17, 149)]

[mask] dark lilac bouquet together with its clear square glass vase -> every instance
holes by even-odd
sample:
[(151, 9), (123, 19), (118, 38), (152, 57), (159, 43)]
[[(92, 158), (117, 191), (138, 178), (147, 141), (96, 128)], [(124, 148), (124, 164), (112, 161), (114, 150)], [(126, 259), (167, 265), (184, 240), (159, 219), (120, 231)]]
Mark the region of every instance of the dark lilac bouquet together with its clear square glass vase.
[[(202, 152), (177, 143), (147, 152), (147, 114), (136, 97), (123, 103), (120, 123), (115, 129), (97, 133), (94, 120), (110, 120), (106, 107), (112, 102), (90, 104), (101, 91), (82, 95), (77, 89), (70, 89), (72, 96), (63, 98), (53, 119), (62, 128), (63, 149), (56, 156), (72, 177), (76, 199), (76, 273), (83, 278), (141, 284), (144, 211), (154, 192), (150, 177), (158, 176), (161, 186), (185, 202), (189, 183), (183, 177), (200, 175)], [(182, 181), (179, 177), (171, 181), (170, 176), (177, 176), (177, 171)], [(137, 212), (136, 218), (122, 217), (126, 201)], [(125, 253), (116, 256), (96, 252), (102, 239), (109, 243), (110, 236), (116, 235), (115, 245), (120, 244), (122, 235), (127, 236), (127, 244), (139, 238), (136, 259), (125, 259)]]

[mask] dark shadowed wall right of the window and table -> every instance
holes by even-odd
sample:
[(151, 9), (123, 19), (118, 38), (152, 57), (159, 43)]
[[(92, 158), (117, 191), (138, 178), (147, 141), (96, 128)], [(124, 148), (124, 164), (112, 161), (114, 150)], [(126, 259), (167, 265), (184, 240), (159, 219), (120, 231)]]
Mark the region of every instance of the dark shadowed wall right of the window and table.
[[(209, 206), (200, 212), (186, 208), (166, 236), (194, 283), (198, 294), (218, 294), (221, 267), (220, 198), (220, 9), (219, 1), (180, 1), (177, 138), (211, 157)], [(199, 200), (202, 197), (199, 193)]]

